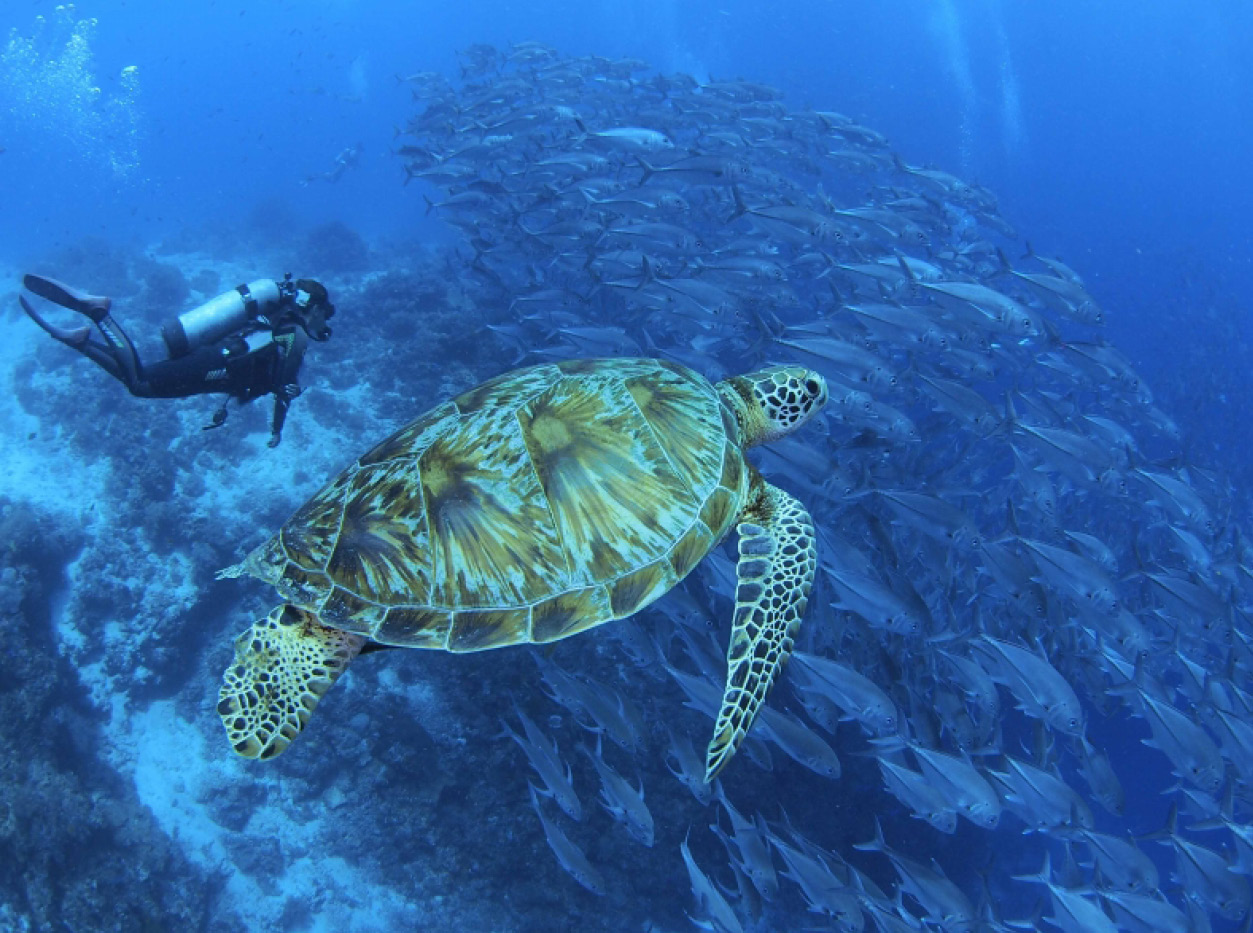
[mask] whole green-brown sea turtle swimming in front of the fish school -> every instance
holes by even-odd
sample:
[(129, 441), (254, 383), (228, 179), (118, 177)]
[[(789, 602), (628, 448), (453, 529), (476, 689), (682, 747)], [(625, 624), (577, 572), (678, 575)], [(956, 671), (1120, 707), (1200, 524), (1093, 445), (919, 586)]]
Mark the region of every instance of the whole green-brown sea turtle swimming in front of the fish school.
[(801, 366), (712, 384), (620, 358), (516, 369), (436, 406), (219, 575), (286, 600), (236, 640), (218, 703), (232, 746), (279, 754), (363, 649), (545, 644), (629, 616), (736, 526), (712, 780), (792, 650), (816, 567), (809, 515), (744, 448), (826, 401)]

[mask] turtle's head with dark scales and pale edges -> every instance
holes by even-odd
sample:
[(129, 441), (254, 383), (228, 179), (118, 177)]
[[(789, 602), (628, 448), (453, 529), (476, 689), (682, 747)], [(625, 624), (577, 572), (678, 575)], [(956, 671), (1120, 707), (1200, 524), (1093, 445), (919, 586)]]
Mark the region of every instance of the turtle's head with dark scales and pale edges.
[(794, 363), (736, 376), (720, 388), (737, 410), (746, 447), (796, 431), (827, 403), (827, 381)]

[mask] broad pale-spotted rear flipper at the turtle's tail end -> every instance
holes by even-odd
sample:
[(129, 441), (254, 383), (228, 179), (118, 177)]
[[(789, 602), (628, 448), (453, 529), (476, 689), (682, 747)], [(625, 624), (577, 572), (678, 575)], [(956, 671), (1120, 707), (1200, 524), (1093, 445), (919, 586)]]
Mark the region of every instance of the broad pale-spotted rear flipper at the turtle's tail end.
[(218, 694), (231, 746), (244, 758), (278, 755), (365, 642), (294, 606), (278, 606), (258, 620), (236, 639)]

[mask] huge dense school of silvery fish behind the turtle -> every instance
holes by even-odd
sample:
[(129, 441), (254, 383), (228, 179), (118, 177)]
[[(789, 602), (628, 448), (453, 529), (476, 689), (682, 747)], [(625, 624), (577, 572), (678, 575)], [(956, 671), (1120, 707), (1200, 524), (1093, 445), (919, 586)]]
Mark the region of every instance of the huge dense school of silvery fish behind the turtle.
[[(707, 785), (678, 718), (717, 711), (724, 551), (606, 630), (619, 683), (535, 652), (588, 731), (561, 748), (515, 708), (505, 735), (571, 884), (615, 868), (579, 842), (588, 788), (662, 837), (652, 755), (695, 799), (670, 838), (702, 929), (1247, 929), (1253, 551), (1080, 277), (990, 192), (769, 86), (538, 44), (462, 61), (403, 79), (395, 149), (506, 362), (797, 361), (831, 392), (754, 452), (812, 511), (819, 574), (734, 774)], [(789, 819), (809, 780), (856, 829)], [(997, 857), (971, 865), (980, 833)]]

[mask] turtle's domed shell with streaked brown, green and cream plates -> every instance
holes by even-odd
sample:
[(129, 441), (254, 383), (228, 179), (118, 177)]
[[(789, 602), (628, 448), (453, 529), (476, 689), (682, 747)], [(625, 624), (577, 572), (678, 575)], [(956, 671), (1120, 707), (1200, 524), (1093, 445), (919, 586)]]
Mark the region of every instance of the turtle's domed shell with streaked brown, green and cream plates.
[(736, 418), (692, 369), (536, 366), (397, 431), (246, 567), (323, 625), (388, 645), (554, 641), (674, 586), (748, 482)]

